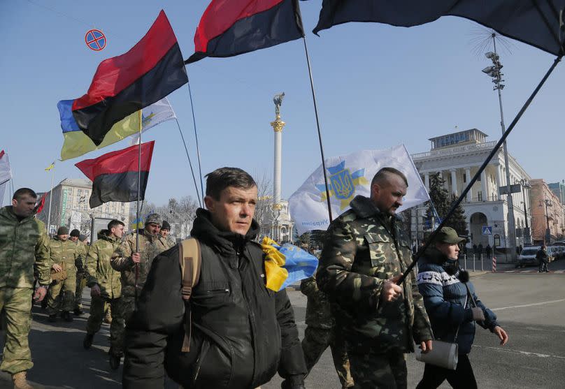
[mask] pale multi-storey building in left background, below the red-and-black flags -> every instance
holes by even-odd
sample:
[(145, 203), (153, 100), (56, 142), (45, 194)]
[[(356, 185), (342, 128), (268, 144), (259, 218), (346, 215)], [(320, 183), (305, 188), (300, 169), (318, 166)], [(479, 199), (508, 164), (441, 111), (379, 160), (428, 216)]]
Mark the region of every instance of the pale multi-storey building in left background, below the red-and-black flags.
[[(70, 229), (77, 228), (89, 237), (92, 218), (117, 219), (129, 226), (130, 203), (111, 201), (91, 210), (88, 205), (90, 193), (92, 193), (90, 179), (66, 178), (52, 190), (50, 212), (50, 195), (47, 194), (43, 212), (38, 214), (38, 219), (43, 221), (45, 226), (48, 225), (49, 219), (50, 233), (54, 233), (59, 226), (66, 226)], [(43, 193), (38, 193), (38, 198), (41, 198), (41, 196), (43, 196)], [(50, 218), (49, 213), (51, 214)]]

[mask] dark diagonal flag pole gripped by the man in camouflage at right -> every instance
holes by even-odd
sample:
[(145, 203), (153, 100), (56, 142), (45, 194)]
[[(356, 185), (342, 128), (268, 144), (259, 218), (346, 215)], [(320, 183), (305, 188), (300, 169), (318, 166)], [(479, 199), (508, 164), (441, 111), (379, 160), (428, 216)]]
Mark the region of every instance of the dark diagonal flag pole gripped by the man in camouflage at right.
[(478, 177), (480, 177), (480, 174), (482, 173), (482, 170), (485, 170), (485, 168), (487, 167), (488, 163), (490, 162), (490, 160), (492, 159), (492, 157), (499, 151), (501, 145), (504, 143), (504, 141), (506, 140), (506, 138), (508, 138), (508, 135), (510, 135), (510, 131), (512, 131), (514, 129), (514, 127), (516, 126), (518, 120), (520, 120), (520, 118), (522, 117), (522, 115), (524, 115), (524, 112), (526, 112), (527, 108), (529, 107), (529, 105), (531, 104), (531, 101), (534, 100), (534, 97), (536, 97), (536, 94), (538, 94), (538, 91), (540, 91), (541, 87), (543, 87), (543, 85), (545, 84), (545, 81), (548, 80), (550, 74), (553, 72), (553, 70), (555, 69), (555, 66), (557, 66), (557, 64), (559, 64), (559, 61), (561, 61), (562, 56), (560, 55), (559, 57), (557, 57), (555, 59), (555, 61), (553, 61), (553, 64), (550, 66), (549, 70), (547, 71), (547, 73), (545, 73), (545, 75), (543, 76), (543, 78), (541, 79), (541, 81), (539, 82), (538, 86), (536, 87), (536, 89), (534, 89), (534, 91), (531, 93), (531, 95), (529, 96), (529, 98), (527, 99), (527, 101), (524, 103), (524, 105), (522, 105), (522, 108), (520, 109), (520, 112), (517, 113), (516, 117), (514, 118), (514, 120), (512, 121), (512, 123), (510, 123), (510, 126), (508, 126), (508, 129), (506, 129), (506, 131), (502, 134), (502, 137), (499, 139), (499, 141), (496, 143), (496, 145), (493, 147), (492, 151), (490, 152), (490, 154), (487, 156), (487, 159), (485, 159), (485, 161), (482, 163), (482, 165), (480, 166), (480, 168), (477, 170), (477, 173), (475, 173), (474, 177), (471, 179), (471, 181), (469, 182), (469, 184), (467, 184), (466, 188), (464, 189), (464, 191), (461, 193), (461, 195), (459, 196), (459, 198), (457, 198), (457, 200), (455, 201), (455, 203), (453, 203), (451, 205), (451, 208), (448, 212), (447, 215), (445, 215), (445, 218), (441, 221), (440, 225), (438, 226), (438, 228), (436, 228), (436, 230), (434, 230), (433, 233), (431, 233), (431, 235), (429, 236), (427, 242), (424, 244), (423, 247), (421, 247), (420, 249), (418, 249), (416, 255), (414, 256), (414, 260), (412, 261), (412, 263), (410, 263), (410, 265), (408, 265), (408, 267), (406, 268), (406, 270), (404, 270), (404, 272), (401, 274), (401, 277), (399, 278), (398, 281), (396, 281), (396, 284), (400, 285), (403, 283), (404, 279), (406, 279), (406, 277), (408, 277), (408, 274), (410, 274), (410, 272), (412, 271), (412, 269), (414, 268), (414, 266), (416, 265), (418, 259), (420, 258), (420, 256), (422, 256), (422, 254), (424, 254), (424, 251), (427, 250), (427, 248), (429, 247), (429, 245), (431, 244), (431, 242), (434, 241), (434, 239), (436, 238), (436, 236), (439, 233), (439, 230), (445, 226), (445, 222), (449, 220), (449, 218), (452, 216), (453, 212), (455, 212), (455, 208), (457, 208), (457, 206), (459, 204), (462, 203), (463, 199), (465, 198), (465, 196), (467, 196), (467, 193), (469, 193), (469, 191), (471, 190), (471, 186), (473, 186), (473, 184), (475, 184), (475, 182), (477, 181)]

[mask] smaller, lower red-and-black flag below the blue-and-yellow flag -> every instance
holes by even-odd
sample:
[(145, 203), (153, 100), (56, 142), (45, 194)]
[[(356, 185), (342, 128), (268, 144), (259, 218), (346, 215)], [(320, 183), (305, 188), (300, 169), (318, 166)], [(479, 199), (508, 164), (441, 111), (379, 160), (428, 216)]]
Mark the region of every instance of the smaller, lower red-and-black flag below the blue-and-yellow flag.
[(155, 141), (141, 144), (139, 173), (138, 145), (75, 163), (75, 166), (92, 181), (90, 207), (98, 207), (108, 201), (127, 203), (137, 200), (138, 174), (141, 177), (139, 200), (143, 200), (151, 167), (153, 145)]

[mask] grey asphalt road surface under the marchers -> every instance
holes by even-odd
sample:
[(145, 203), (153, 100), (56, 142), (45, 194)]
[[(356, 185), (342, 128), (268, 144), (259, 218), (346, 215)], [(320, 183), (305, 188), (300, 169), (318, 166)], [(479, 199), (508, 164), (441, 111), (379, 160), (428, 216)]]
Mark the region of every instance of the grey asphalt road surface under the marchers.
[[(562, 269), (565, 261), (554, 265), (555, 269)], [(565, 381), (565, 276), (503, 271), (504, 268), (496, 274), (478, 272), (472, 278), (480, 298), (496, 312), (510, 335), (508, 345), (501, 348), (490, 332), (482, 329), (477, 332), (470, 358), (479, 386), (562, 388)], [(289, 295), (302, 337), (306, 298), (298, 291), (289, 291)], [(62, 321), (48, 323), (45, 312), (37, 306), (33, 313), (30, 342), (36, 365), (29, 372), (29, 379), (42, 385), (38, 388), (121, 387), (122, 368), (112, 371), (108, 366), (107, 325), (103, 325), (94, 338), (92, 349), (85, 351), (82, 346), (85, 316), (69, 325)], [(409, 355), (408, 370), (408, 387), (413, 388), (422, 376), (423, 365)], [(7, 374), (0, 373), (0, 388), (11, 388), (9, 381)], [(306, 383), (307, 388), (313, 389), (339, 387), (329, 350), (322, 355)], [(167, 388), (176, 386), (169, 383)], [(263, 389), (275, 388), (280, 388), (278, 377), (263, 386)]]

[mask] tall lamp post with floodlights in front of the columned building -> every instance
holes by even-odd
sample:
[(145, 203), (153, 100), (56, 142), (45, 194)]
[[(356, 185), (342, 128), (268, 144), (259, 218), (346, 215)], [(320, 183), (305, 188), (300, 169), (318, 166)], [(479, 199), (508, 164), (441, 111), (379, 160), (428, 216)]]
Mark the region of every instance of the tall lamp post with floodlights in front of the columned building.
[[(502, 94), (501, 90), (504, 88), (502, 82), (503, 73), (501, 73), (501, 68), (503, 67), (500, 63), (499, 54), (496, 54), (496, 34), (492, 34), (492, 42), (494, 44), (494, 52), (487, 52), (485, 56), (492, 61), (492, 66), (488, 66), (487, 68), (482, 69), (483, 73), (486, 73), (490, 77), (492, 77), (492, 82), (494, 82), (493, 90), (498, 91), (499, 93), (499, 108), (500, 108), (500, 127), (502, 133), (506, 132), (506, 126), (504, 125), (504, 114), (502, 110)], [(503, 143), (503, 152), (504, 152), (504, 167), (506, 168), (506, 183), (508, 186), (508, 239), (510, 240), (510, 244), (508, 249), (510, 253), (515, 253), (516, 251), (516, 228), (515, 228), (515, 219), (514, 219), (514, 201), (512, 198), (512, 193), (510, 191), (510, 168), (508, 166), (508, 148), (506, 147), (506, 140)]]

